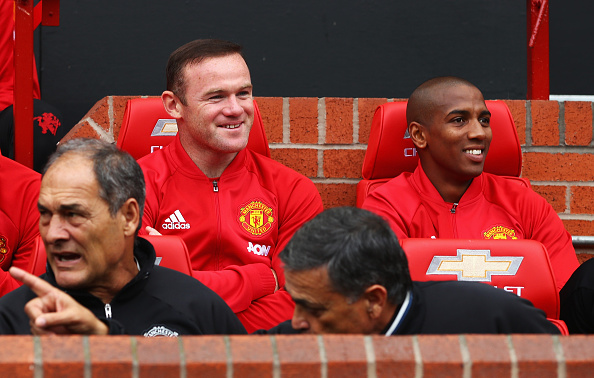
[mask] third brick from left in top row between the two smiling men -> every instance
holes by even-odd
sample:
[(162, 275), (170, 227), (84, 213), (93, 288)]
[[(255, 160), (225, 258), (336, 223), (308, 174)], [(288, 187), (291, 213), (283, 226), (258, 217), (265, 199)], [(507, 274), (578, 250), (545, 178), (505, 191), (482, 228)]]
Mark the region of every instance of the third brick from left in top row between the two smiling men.
[(353, 99), (326, 98), (326, 143), (353, 143)]

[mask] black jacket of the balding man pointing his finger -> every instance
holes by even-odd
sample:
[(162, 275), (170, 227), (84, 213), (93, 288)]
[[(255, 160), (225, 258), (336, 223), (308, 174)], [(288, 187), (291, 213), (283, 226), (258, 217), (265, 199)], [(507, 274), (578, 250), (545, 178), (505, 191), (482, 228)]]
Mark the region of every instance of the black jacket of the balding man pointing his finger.
[[(109, 305), (86, 291), (60, 288), (51, 269), (41, 278), (88, 308), (109, 325), (110, 334), (177, 336), (245, 334), (229, 306), (195, 278), (155, 266), (155, 250), (136, 238), (134, 256), (140, 272)], [(35, 293), (22, 286), (0, 298), (0, 334), (30, 334), (25, 304)], [(111, 313), (111, 316), (108, 314)]]

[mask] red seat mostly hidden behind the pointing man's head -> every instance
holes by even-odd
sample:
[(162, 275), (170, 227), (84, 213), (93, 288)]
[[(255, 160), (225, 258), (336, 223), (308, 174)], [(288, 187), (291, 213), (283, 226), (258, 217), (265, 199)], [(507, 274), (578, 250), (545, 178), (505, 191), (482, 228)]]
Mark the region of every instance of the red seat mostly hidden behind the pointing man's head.
[[(189, 276), (192, 275), (192, 264), (190, 262), (188, 248), (181, 237), (176, 235), (143, 235), (139, 237), (148, 240), (155, 248), (155, 253), (157, 254), (155, 265), (174, 269)], [(35, 244), (35, 251), (31, 255), (27, 270), (39, 276), (45, 273), (46, 261), (45, 246), (41, 237), (38, 237)]]

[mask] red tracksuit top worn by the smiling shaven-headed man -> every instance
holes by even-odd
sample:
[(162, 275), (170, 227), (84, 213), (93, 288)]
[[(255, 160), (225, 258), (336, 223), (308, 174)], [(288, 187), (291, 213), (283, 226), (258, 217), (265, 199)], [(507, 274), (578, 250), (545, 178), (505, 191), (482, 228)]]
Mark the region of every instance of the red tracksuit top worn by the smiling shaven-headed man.
[(419, 165), (371, 192), (363, 208), (402, 238), (532, 239), (549, 253), (557, 289), (578, 267), (571, 235), (540, 195), (517, 177), (483, 172), (458, 203), (445, 202)]

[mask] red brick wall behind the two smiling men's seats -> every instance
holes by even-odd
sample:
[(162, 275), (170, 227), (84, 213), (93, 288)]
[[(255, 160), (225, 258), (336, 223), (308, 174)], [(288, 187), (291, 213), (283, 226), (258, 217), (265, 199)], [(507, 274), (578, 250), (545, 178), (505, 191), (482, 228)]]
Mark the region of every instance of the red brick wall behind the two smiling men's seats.
[[(65, 137), (117, 140), (126, 101), (101, 99)], [(355, 205), (375, 108), (386, 98), (257, 97), (275, 160), (310, 177), (325, 207)], [(506, 100), (522, 144), (522, 176), (572, 235), (594, 235), (592, 103)]]

